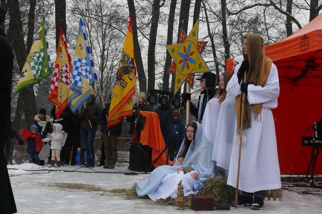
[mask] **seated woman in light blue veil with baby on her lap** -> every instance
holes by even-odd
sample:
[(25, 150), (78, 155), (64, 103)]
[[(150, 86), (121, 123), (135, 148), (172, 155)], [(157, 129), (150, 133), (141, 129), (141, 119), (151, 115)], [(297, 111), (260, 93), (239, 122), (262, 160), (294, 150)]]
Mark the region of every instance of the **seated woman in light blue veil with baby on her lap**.
[[(180, 180), (185, 196), (198, 192), (207, 178), (213, 177), (214, 172), (217, 174), (215, 162), (211, 160), (212, 152), (213, 146), (205, 137), (202, 126), (195, 121), (189, 123), (175, 164), (158, 167), (151, 172), (148, 179), (138, 182), (138, 196), (148, 195), (154, 201), (175, 198)], [(178, 163), (178, 157), (184, 158), (182, 165)]]

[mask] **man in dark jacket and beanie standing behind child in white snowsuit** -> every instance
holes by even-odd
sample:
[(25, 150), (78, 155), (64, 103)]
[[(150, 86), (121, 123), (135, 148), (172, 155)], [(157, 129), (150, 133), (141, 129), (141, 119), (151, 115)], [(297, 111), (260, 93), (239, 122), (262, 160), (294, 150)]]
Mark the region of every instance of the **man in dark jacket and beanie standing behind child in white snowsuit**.
[(95, 90), (92, 89), (91, 95), (87, 99), (86, 108), (82, 105), (79, 113), (80, 131), (86, 146), (86, 167), (95, 167), (94, 138), (96, 129), (103, 117), (101, 105), (95, 102), (95, 94)]

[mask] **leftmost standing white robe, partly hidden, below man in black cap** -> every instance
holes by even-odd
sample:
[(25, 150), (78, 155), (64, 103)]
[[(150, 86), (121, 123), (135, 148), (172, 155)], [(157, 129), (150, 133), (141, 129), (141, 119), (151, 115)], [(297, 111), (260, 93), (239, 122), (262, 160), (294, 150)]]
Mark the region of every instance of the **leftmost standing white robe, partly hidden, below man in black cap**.
[(219, 115), (218, 98), (214, 97), (206, 105), (202, 127), (207, 139), (214, 145), (217, 121)]

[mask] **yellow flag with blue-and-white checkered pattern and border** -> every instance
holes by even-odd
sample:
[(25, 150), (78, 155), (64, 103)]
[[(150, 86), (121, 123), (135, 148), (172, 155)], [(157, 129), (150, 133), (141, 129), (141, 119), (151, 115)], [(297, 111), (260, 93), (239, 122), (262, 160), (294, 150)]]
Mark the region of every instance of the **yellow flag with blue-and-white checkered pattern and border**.
[(88, 46), (83, 20), (80, 19), (73, 76), (68, 97), (68, 104), (73, 113), (90, 97), (90, 86), (95, 80), (97, 80), (97, 75), (94, 62)]

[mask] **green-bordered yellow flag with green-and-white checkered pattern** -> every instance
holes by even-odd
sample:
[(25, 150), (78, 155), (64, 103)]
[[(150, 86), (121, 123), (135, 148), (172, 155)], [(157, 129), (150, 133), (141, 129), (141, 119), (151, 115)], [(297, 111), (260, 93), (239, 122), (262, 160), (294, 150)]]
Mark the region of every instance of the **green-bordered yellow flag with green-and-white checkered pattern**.
[(40, 81), (52, 74), (45, 17), (38, 30), (38, 37), (39, 40), (35, 41), (31, 46), (13, 96), (26, 87), (39, 84)]

